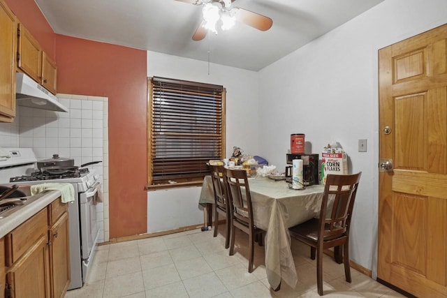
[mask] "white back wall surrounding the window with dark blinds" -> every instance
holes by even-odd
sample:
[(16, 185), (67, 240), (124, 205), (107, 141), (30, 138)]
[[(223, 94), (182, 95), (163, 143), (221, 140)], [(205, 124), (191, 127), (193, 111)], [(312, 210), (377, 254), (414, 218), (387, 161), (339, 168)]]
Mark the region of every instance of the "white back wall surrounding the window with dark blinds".
[[(207, 54), (207, 53), (204, 53)], [(209, 70), (209, 71), (208, 71)], [(260, 155), (258, 140), (258, 73), (240, 68), (147, 52), (147, 76), (219, 84), (226, 88), (226, 154), (233, 146)], [(147, 192), (147, 232), (203, 223), (200, 187)], [(170, 220), (166, 219), (166, 214)]]

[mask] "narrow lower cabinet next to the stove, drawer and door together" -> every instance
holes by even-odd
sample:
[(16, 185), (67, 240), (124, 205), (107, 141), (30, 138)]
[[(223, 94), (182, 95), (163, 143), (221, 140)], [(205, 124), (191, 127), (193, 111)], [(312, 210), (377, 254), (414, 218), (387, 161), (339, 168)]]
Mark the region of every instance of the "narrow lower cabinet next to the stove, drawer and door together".
[(50, 271), (53, 298), (64, 297), (70, 285), (68, 206), (60, 199), (50, 204)]

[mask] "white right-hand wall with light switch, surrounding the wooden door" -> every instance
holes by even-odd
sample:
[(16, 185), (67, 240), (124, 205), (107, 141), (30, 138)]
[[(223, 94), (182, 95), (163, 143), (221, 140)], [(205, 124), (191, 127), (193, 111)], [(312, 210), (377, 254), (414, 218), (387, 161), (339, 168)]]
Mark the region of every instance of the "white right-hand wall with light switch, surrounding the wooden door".
[[(350, 172), (362, 171), (351, 230), (351, 259), (376, 273), (378, 50), (447, 23), (446, 0), (386, 0), (259, 72), (260, 155), (283, 167), (291, 133), (312, 153), (342, 144)], [(263, 121), (274, 119), (274, 121)], [(274, 124), (274, 125), (273, 125)], [(358, 152), (367, 139), (367, 152)]]

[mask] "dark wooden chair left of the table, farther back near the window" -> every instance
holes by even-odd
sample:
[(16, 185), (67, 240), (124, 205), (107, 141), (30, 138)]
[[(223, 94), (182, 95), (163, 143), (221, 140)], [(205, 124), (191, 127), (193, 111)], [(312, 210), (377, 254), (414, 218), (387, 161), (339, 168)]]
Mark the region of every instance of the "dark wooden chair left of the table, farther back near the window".
[(224, 183), (223, 165), (210, 165), (212, 189), (214, 191), (214, 237), (217, 237), (219, 227), (219, 214), (225, 216), (225, 248), (230, 246), (230, 205), (227, 200), (226, 184)]

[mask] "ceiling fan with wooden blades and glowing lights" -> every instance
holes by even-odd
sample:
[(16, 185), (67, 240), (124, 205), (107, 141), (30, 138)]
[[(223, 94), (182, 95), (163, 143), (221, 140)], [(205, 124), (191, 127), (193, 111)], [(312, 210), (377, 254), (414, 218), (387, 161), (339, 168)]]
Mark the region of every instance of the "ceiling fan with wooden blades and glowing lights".
[(177, 0), (202, 6), (203, 20), (193, 34), (193, 40), (202, 40), (207, 31), (217, 33), (216, 25), (220, 20), (222, 29), (230, 29), (235, 21), (247, 24), (255, 29), (267, 31), (272, 27), (273, 21), (270, 17), (254, 13), (244, 8), (235, 7), (231, 4), (235, 0)]

